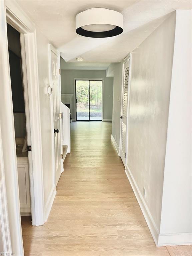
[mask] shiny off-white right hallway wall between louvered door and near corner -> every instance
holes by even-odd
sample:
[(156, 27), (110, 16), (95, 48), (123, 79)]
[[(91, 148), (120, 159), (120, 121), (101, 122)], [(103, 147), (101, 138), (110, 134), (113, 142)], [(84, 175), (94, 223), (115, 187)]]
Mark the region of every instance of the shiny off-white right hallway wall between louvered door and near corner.
[(175, 12), (132, 53), (127, 165), (160, 230)]

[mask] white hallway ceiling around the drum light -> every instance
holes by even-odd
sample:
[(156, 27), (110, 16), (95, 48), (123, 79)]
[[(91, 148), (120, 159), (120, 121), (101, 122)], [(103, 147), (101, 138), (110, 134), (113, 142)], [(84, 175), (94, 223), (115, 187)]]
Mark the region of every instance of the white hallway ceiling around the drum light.
[[(120, 62), (167, 14), (191, 9), (191, 0), (17, 0), (67, 62)], [(75, 32), (75, 16), (88, 8), (104, 7), (124, 16), (124, 32), (111, 38), (87, 38)], [(166, 16), (164, 16), (166, 15)]]

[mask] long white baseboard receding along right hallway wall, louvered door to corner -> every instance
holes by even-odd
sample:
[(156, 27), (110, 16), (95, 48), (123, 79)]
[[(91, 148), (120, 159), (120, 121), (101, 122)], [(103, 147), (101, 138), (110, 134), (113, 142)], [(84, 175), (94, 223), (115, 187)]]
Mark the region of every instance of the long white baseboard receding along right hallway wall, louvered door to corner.
[(145, 220), (147, 222), (147, 225), (149, 227), (149, 230), (151, 232), (153, 240), (154, 240), (156, 246), (158, 246), (158, 237), (159, 237), (158, 228), (157, 228), (157, 226), (156, 226), (156, 224), (155, 224), (155, 222), (154, 222), (154, 220), (153, 220), (153, 218), (151, 216), (149, 208), (147, 207), (147, 205), (146, 205), (146, 203), (145, 203), (145, 201), (143, 199), (143, 195), (141, 194), (141, 192), (140, 192), (140, 190), (139, 190), (139, 188), (138, 188), (138, 186), (137, 186), (137, 184), (136, 184), (136, 182), (135, 182), (135, 180), (133, 178), (133, 175), (131, 174), (131, 171), (129, 170), (129, 167), (127, 166), (127, 164), (125, 165), (125, 168), (126, 168), (125, 169), (125, 173), (126, 173), (127, 178), (128, 178), (128, 180), (129, 180), (129, 182), (131, 184), (133, 192), (134, 192), (134, 194), (135, 194), (135, 196), (137, 198), (137, 201), (139, 203), (139, 206), (141, 208), (143, 216), (144, 216), (144, 218), (145, 218)]

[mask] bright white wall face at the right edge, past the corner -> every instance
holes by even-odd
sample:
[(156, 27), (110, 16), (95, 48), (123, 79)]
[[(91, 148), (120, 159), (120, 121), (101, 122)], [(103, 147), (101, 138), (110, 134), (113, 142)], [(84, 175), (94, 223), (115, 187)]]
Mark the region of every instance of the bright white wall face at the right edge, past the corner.
[(192, 232), (191, 24), (191, 11), (177, 10), (161, 233)]

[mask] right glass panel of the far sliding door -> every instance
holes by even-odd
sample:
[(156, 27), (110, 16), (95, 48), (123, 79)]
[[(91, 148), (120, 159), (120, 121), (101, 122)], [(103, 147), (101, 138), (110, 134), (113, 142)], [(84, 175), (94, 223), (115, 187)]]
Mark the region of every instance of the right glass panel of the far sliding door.
[(89, 81), (89, 120), (102, 120), (102, 80)]

